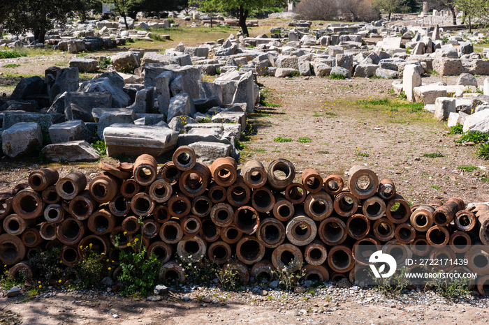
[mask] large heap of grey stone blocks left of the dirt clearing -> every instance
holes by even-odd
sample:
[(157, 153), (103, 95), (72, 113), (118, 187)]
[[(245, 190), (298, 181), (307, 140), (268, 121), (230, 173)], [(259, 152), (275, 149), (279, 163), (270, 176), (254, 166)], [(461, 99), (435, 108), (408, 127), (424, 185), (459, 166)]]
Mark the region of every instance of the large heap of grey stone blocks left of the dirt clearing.
[(251, 71), (231, 70), (205, 82), (203, 68), (192, 65), (189, 54), (133, 49), (112, 56), (112, 64), (116, 70), (134, 64), (135, 75), (107, 72), (80, 82), (73, 61), (80, 59), (70, 68), (48, 68), (44, 80), (22, 79), (0, 100), (6, 156), (41, 149), (43, 133), (49, 133), (52, 144), (42, 152), (53, 160), (97, 160), (89, 143), (98, 139), (108, 156), (160, 156), (188, 145), (201, 162), (239, 157), (235, 139), (260, 97)]

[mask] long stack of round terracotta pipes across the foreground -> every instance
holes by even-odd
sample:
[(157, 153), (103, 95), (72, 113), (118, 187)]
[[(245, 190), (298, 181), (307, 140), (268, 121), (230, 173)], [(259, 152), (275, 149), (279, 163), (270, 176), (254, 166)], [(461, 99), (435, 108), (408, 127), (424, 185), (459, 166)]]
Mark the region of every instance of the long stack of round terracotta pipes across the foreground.
[[(468, 211), (452, 198), (411, 207), (392, 181), (360, 166), (351, 167), (347, 182), (306, 169), (295, 183), (286, 159), (266, 169), (251, 160), (239, 170), (232, 158), (210, 166), (196, 160), (191, 148), (180, 146), (160, 168), (149, 155), (134, 164), (101, 162), (103, 173), (89, 184), (76, 170), (61, 179), (52, 168), (32, 172), (29, 183), (0, 194), (1, 262), (15, 273), (28, 269), (36, 252), (59, 246), (63, 264), (73, 266), (83, 257), (80, 246), (92, 244), (117, 264), (120, 250), (142, 233), (148, 254), (164, 264), (163, 279), (184, 280), (176, 253), (194, 261), (207, 255), (242, 280), (271, 280), (277, 268), (302, 265), (308, 280), (353, 281), (355, 259), (366, 265), (370, 256), (354, 256), (356, 245), (365, 244), (390, 251), (409, 244), (406, 255), (432, 258), (462, 254), (466, 268), (489, 273), (489, 249), (469, 249), (489, 244), (486, 205)], [(460, 249), (453, 252), (449, 243)], [(481, 266), (485, 257), (488, 266)]]

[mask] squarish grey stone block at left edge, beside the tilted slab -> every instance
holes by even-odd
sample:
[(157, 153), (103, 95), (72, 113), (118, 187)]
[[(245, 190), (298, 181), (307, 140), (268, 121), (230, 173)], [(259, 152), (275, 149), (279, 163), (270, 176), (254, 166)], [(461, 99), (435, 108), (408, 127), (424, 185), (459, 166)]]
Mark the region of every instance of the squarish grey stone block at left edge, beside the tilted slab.
[(6, 127), (3, 122), (1, 149), (6, 156), (16, 158), (25, 156), (43, 147), (43, 133), (35, 122), (20, 122)]

